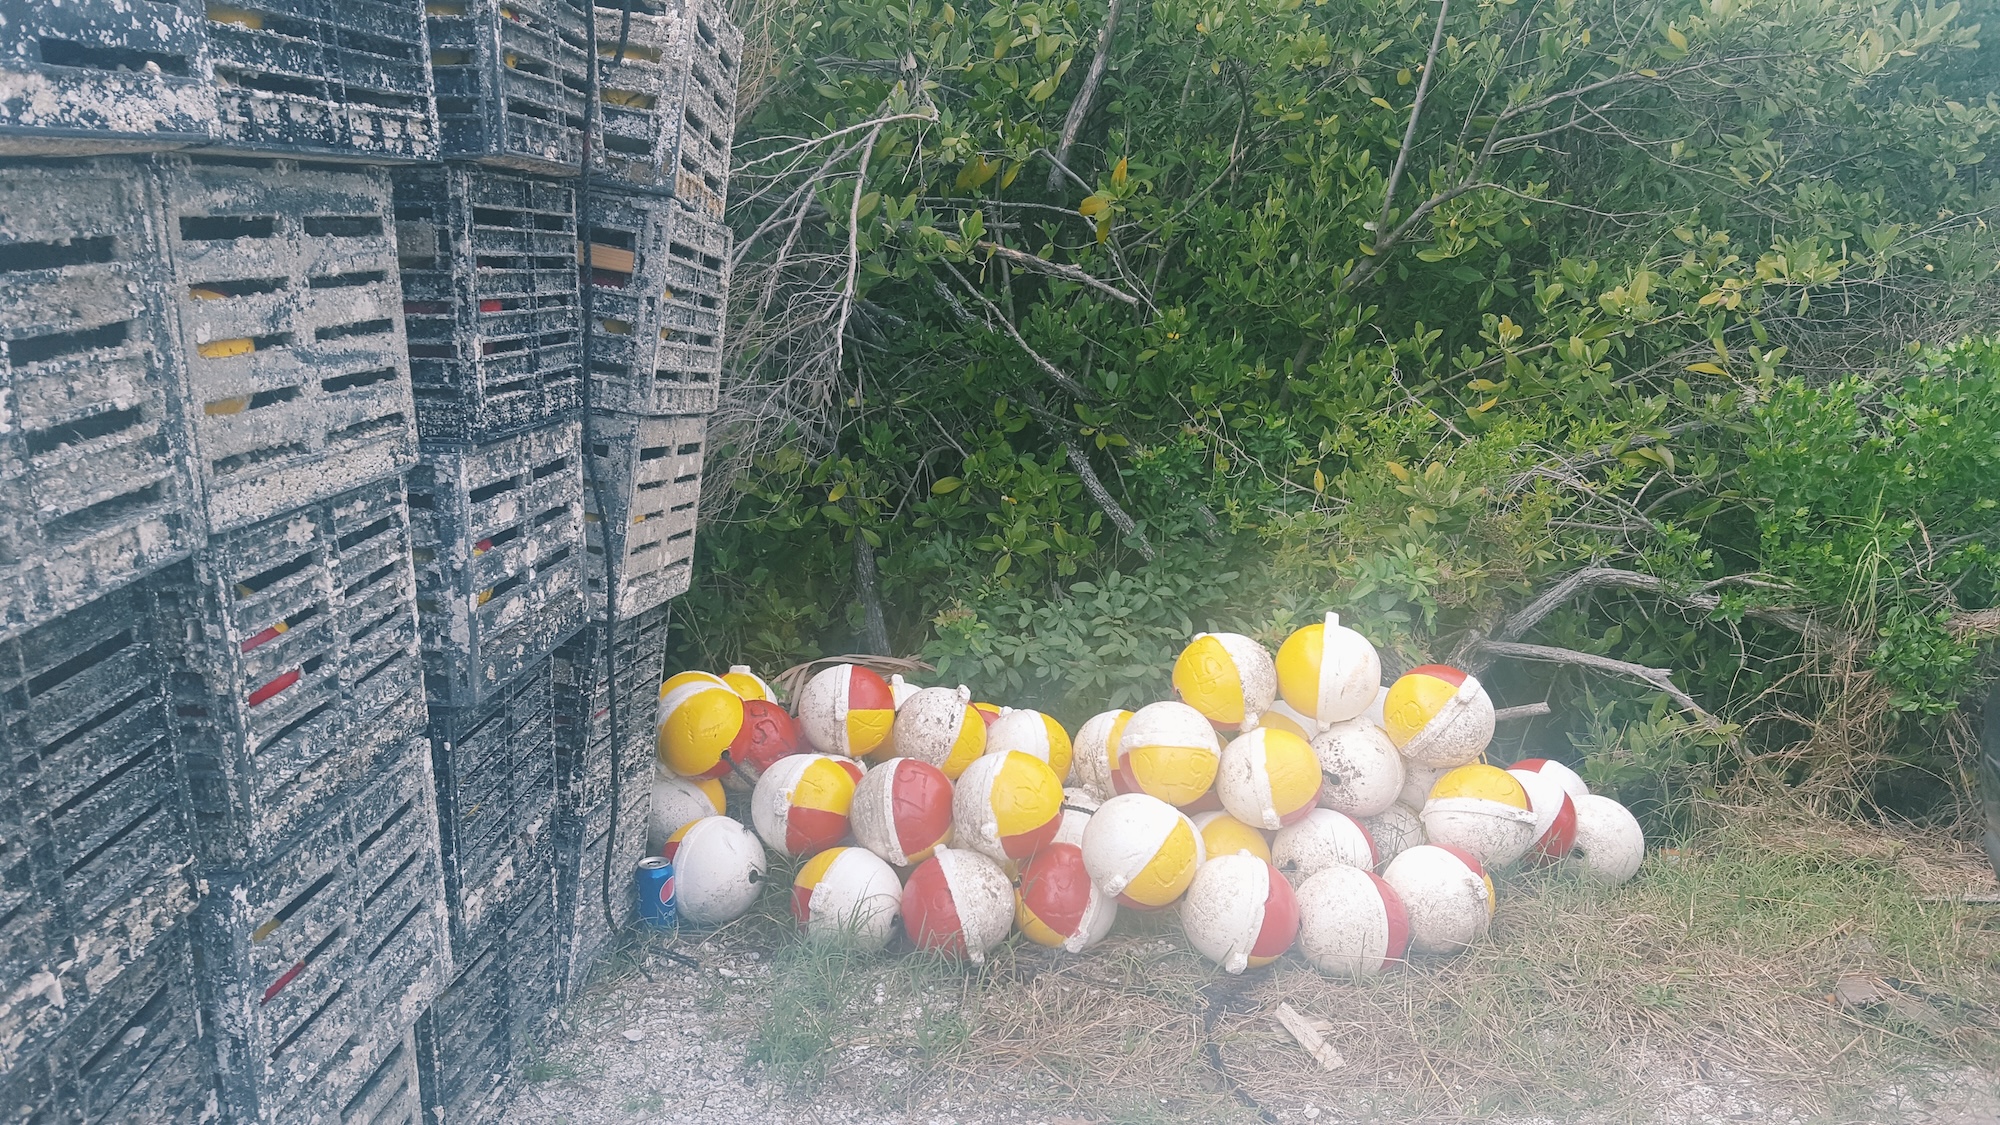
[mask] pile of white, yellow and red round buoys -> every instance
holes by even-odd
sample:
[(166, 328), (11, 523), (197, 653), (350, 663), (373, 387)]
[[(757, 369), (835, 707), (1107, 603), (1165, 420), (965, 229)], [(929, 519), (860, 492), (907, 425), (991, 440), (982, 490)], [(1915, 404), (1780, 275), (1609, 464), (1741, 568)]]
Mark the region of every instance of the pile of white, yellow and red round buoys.
[(1570, 767), (1484, 761), (1476, 677), (1424, 665), (1384, 685), (1338, 615), (1276, 655), (1196, 635), (1174, 693), (1072, 739), (862, 665), (820, 671), (792, 711), (750, 669), (680, 673), (660, 685), (648, 847), (674, 861), (686, 925), (742, 917), (778, 855), (808, 937), (880, 949), (900, 929), (980, 961), (1018, 929), (1080, 953), (1120, 909), (1174, 907), (1228, 973), (1296, 949), (1356, 977), (1484, 939), (1498, 869), (1616, 885), (1644, 857), (1632, 813)]

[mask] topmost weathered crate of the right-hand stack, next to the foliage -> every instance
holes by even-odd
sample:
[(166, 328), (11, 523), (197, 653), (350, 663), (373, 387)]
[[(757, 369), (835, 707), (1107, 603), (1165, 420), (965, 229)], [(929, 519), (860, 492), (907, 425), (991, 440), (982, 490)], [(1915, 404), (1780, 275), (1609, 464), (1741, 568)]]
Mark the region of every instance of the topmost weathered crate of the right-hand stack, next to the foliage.
[(724, 4), (636, 0), (620, 56), (622, 20), (618, 0), (598, 4), (600, 166), (632, 186), (672, 194), (722, 218), (742, 32)]

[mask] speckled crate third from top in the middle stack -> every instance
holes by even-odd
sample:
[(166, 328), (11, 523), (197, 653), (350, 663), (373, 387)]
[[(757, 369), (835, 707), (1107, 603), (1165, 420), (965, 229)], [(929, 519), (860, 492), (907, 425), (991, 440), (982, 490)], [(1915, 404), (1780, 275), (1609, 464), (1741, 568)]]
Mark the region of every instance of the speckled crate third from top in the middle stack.
[(480, 707), (582, 625), (580, 460), (578, 424), (556, 422), (410, 472), (432, 707)]

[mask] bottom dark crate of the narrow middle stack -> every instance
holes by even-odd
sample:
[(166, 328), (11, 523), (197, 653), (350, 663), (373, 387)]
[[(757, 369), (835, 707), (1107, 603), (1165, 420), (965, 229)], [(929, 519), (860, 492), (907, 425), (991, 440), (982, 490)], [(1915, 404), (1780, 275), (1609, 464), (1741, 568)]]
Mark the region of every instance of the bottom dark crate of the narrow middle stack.
[(538, 1053), (560, 995), (554, 899), (524, 901), (508, 929), (476, 957), (418, 1023), (426, 1121), (504, 1121), (518, 1065)]

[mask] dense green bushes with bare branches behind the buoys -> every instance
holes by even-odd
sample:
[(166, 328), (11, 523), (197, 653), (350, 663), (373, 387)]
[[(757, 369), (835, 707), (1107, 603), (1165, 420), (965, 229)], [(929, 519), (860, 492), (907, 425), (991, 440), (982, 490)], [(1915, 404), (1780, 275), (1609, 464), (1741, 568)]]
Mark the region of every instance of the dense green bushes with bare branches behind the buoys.
[(1990, 0), (744, 4), (674, 659), (914, 653), (1074, 727), (1338, 609), (1626, 797), (1954, 807)]

